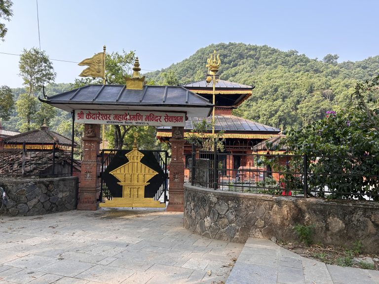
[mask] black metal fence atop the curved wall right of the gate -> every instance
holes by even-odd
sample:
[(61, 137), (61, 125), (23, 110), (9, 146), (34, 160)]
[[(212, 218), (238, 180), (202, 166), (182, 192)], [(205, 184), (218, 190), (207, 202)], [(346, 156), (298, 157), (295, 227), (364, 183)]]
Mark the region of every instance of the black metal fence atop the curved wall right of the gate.
[(201, 151), (192, 146), (192, 185), (249, 193), (379, 201), (378, 157)]

